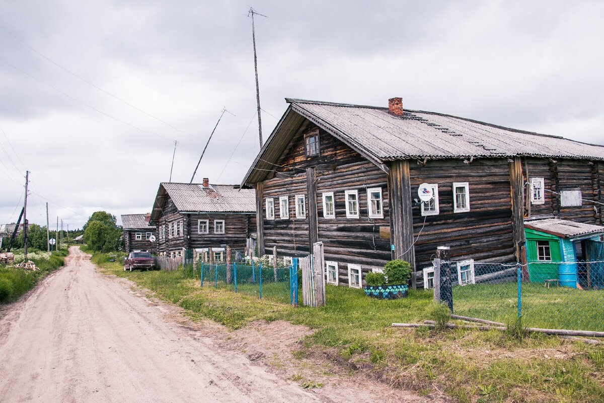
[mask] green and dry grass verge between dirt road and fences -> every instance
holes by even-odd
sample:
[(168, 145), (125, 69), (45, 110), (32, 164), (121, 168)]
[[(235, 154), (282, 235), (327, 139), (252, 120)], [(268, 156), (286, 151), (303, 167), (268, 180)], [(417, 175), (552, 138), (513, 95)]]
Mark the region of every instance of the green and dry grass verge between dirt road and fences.
[[(328, 285), (327, 306), (294, 308), (280, 301), (278, 283), (267, 284), (266, 291), (263, 286), (260, 300), (251, 291), (242, 292), (245, 288), (238, 287), (237, 294), (226, 286), (201, 288), (199, 278), (192, 278), (186, 269), (124, 272), (117, 262), (101, 267), (181, 306), (192, 318), (210, 318), (230, 329), (256, 320), (286, 320), (310, 327), (315, 332), (304, 338), (298, 358), (324, 350), (336, 361), (362, 363), (376, 376), (387, 374), (391, 384), (424, 395), (438, 386), (457, 402), (604, 401), (602, 347), (544, 335), (519, 340), (496, 330), (389, 327), (393, 322), (437, 316), (444, 320), (443, 312), (434, 314), (430, 291), (410, 290), (408, 298), (388, 301), (368, 298), (360, 289)], [(271, 286), (275, 295), (268, 291)], [(296, 381), (309, 382), (309, 388), (321, 386), (307, 379)]]

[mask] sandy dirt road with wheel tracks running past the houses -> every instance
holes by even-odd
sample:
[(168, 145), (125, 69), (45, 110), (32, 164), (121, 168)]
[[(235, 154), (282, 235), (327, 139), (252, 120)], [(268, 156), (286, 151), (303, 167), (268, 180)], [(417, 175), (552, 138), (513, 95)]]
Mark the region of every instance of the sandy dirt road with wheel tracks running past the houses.
[(0, 401), (341, 401), (190, 337), (78, 248), (67, 262), (0, 313)]

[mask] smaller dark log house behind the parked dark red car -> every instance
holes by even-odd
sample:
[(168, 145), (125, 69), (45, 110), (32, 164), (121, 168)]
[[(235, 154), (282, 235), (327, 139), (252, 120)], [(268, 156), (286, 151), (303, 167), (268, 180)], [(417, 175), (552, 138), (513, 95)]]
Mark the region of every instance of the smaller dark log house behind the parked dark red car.
[(159, 256), (191, 259), (193, 249), (243, 251), (255, 231), (255, 215), (254, 190), (204, 178), (201, 184), (159, 184), (150, 223), (158, 228)]

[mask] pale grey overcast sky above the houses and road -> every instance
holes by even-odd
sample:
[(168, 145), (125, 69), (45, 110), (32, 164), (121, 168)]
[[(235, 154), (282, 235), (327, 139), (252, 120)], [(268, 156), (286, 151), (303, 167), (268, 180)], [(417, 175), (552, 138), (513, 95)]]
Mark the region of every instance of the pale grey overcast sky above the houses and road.
[[(441, 112), (604, 144), (602, 1), (0, 0), (0, 224), (150, 211), (239, 184), (284, 97)], [(232, 156), (231, 156), (232, 155)]]

